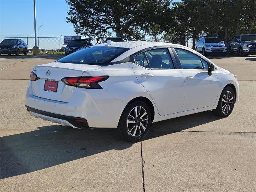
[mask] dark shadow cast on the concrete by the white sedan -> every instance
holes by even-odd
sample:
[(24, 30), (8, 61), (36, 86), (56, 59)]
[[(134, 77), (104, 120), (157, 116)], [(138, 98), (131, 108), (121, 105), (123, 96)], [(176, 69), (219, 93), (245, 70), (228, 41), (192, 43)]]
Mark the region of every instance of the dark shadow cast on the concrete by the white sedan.
[[(201, 112), (153, 123), (144, 140), (218, 120), (212, 112)], [(1, 137), (0, 178), (49, 168), (108, 150), (123, 150), (133, 143), (118, 138), (114, 129), (77, 129), (44, 126), (39, 130)]]

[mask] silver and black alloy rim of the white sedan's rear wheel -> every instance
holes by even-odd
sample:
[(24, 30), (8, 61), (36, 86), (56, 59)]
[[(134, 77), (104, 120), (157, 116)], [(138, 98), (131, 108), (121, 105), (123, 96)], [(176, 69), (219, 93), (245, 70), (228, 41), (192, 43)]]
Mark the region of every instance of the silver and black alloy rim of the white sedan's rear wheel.
[(141, 136), (148, 125), (148, 114), (142, 106), (134, 107), (127, 118), (128, 132), (134, 136)]

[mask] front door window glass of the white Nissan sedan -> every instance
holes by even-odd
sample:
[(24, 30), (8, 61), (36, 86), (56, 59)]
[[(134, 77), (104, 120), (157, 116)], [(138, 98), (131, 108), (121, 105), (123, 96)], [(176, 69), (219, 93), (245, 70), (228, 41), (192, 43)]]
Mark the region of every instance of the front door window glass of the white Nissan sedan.
[(174, 48), (183, 69), (204, 69), (200, 57), (196, 54), (179, 48)]

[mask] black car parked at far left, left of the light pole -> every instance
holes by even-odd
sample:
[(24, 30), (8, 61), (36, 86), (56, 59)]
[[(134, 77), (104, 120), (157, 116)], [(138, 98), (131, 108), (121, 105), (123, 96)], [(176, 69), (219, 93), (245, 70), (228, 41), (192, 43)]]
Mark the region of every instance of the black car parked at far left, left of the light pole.
[(0, 44), (0, 55), (1, 54), (16, 54), (23, 53), (28, 54), (28, 46), (21, 39), (5, 39)]

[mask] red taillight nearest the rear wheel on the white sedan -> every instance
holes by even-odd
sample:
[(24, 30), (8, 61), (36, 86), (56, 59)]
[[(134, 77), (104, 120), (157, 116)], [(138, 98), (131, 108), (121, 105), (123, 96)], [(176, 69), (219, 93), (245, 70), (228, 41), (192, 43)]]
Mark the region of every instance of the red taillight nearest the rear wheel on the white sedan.
[(62, 79), (64, 84), (74, 87), (86, 89), (102, 89), (99, 82), (105, 81), (109, 76), (96, 76), (96, 77), (66, 77)]

